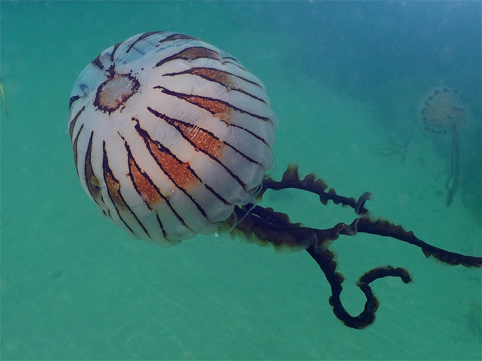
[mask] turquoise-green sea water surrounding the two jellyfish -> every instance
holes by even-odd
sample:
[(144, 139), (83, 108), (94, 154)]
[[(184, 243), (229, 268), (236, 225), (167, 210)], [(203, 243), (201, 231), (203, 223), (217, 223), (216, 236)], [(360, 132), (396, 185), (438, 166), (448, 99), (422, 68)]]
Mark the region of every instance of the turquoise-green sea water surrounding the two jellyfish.
[[(481, 2), (0, 2), (1, 360), (481, 360), (481, 269), (426, 259), (388, 238), (332, 249), (352, 314), (367, 270), (377, 320), (347, 328), (306, 252), (229, 236), (164, 249), (102, 217), (77, 178), (70, 90), (104, 49), (137, 33), (186, 33), (233, 54), (265, 85), (273, 152), (338, 194), (370, 191), (374, 215), (450, 251), (481, 256)], [(469, 109), (461, 182), (445, 206), (451, 138), (417, 108), (443, 82)], [(316, 228), (349, 209), (302, 192), (261, 205)]]

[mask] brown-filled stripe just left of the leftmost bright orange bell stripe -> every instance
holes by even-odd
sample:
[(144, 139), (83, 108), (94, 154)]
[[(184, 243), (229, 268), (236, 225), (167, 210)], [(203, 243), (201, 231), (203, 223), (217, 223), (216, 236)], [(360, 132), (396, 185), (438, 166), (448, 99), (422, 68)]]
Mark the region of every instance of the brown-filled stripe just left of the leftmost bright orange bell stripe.
[[(119, 218), (121, 219), (122, 223), (137, 237), (138, 235), (132, 230), (132, 228), (129, 227), (126, 221), (121, 216), (122, 212), (128, 212), (130, 213), (134, 219), (137, 221), (138, 225), (142, 228), (142, 230), (149, 236), (149, 232), (145, 229), (144, 225), (142, 222), (139, 220), (137, 215), (132, 212), (131, 208), (127, 205), (127, 203), (124, 200), (124, 197), (122, 197), (121, 194), (121, 182), (116, 179), (114, 176), (114, 173), (112, 172), (112, 169), (110, 169), (109, 166), (109, 160), (107, 157), (107, 151), (105, 150), (105, 141), (103, 141), (103, 161), (102, 161), (102, 168), (103, 168), (103, 177), (105, 181), (105, 185), (107, 187), (107, 194), (109, 195), (110, 200), (112, 201), (112, 204), (114, 204), (114, 207), (116, 208), (117, 214), (119, 215)], [(139, 237), (140, 238), (140, 237)]]

